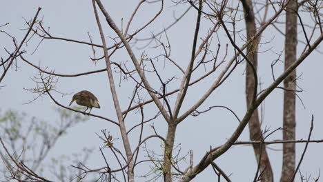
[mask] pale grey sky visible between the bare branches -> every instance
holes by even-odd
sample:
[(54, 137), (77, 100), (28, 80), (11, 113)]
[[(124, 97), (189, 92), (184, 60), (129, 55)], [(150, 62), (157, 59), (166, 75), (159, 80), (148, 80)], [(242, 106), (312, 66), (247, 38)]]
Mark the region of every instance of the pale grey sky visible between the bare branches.
[[(112, 18), (119, 27), (121, 27), (121, 18), (124, 19), (124, 27), (126, 26), (130, 14), (137, 4), (137, 1), (105, 2), (108, 12), (112, 15)], [(164, 11), (161, 17), (153, 23), (153, 26), (149, 26), (146, 31), (141, 32), (138, 35), (138, 38), (150, 37), (151, 32), (159, 32), (164, 28), (164, 26), (168, 26), (173, 22), (174, 14), (175, 17), (179, 17), (187, 7), (182, 5), (172, 5), (173, 3), (167, 2), (164, 6)], [(23, 18), (28, 20), (32, 19), (37, 11), (37, 7), (42, 8), (40, 17), (43, 17), (43, 21), (46, 26), (50, 26), (50, 32), (52, 35), (88, 41), (87, 32), (90, 32), (93, 37), (93, 41), (101, 44), (91, 1), (1, 1), (0, 17), (2, 18), (0, 19), (0, 24), (2, 25), (10, 22), (10, 25), (1, 28), (1, 30), (10, 32), (17, 38), (18, 42), (21, 41), (25, 32), (21, 30), (21, 28), (26, 27), (24, 26)], [(143, 6), (140, 9), (139, 14), (135, 17), (132, 23), (133, 27), (130, 29), (130, 32), (139, 28), (142, 25), (142, 22), (147, 22), (148, 18), (152, 17), (157, 10), (159, 10), (159, 6), (157, 6), (157, 4), (146, 4)], [(195, 19), (196, 11), (190, 10), (186, 17), (167, 32), (172, 46), (172, 57), (179, 65), (182, 65), (183, 68), (186, 68), (190, 58)], [(282, 21), (283, 20), (284, 19), (282, 19)], [(115, 34), (112, 33), (110, 28), (108, 28), (103, 18), (101, 18), (101, 23), (104, 25), (106, 35), (115, 37)], [(239, 29), (242, 29), (243, 25), (243, 21), (237, 24), (237, 26), (240, 26)], [(200, 37), (202, 35), (202, 37), (204, 37), (208, 28), (210, 28), (210, 24), (207, 23), (206, 19), (204, 19), (204, 21), (202, 21), (202, 30), (199, 34)], [(229, 41), (222, 30), (219, 31), (218, 36), (222, 45), (219, 57), (222, 58), (224, 56), (225, 45), (226, 43), (229, 43)], [(240, 32), (237, 37), (244, 37), (244, 32)], [(300, 38), (304, 39), (302, 34), (300, 34)], [(214, 37), (213, 39), (213, 49), (215, 49), (215, 45), (217, 45), (217, 37)], [(0, 34), (0, 40), (1, 57), (7, 57), (3, 48), (12, 50), (12, 41), (3, 33)], [(109, 45), (111, 45), (111, 40), (107, 40)], [(89, 59), (89, 56), (92, 56), (90, 46), (66, 43), (64, 41), (44, 40), (37, 52), (30, 55), (31, 52), (35, 50), (39, 41), (40, 39), (35, 37), (33, 38), (33, 41), (28, 43), (28, 46), (24, 45), (23, 49), (28, 51), (25, 54), (25, 57), (28, 61), (31, 61), (36, 65), (40, 64), (43, 67), (48, 66), (48, 70), (55, 70), (57, 73), (72, 74), (105, 68), (103, 60), (95, 64)], [(283, 50), (284, 39), (273, 28), (269, 28), (264, 32), (262, 41), (270, 41), (260, 47), (260, 50), (262, 51), (270, 49), (269, 51), (260, 53), (259, 56), (259, 77), (263, 83), (262, 88), (264, 88), (272, 81), (271, 62), (274, 59), (277, 59), (277, 54), (274, 52), (281, 52)], [(199, 40), (199, 43), (200, 42), (201, 41)], [(154, 43), (152, 43), (148, 48), (138, 49), (142, 45), (145, 45), (145, 43), (147, 42), (140, 42), (133, 47), (137, 57), (139, 57), (144, 51), (149, 57), (154, 57), (157, 54), (160, 54), (160, 50), (149, 48), (155, 45)], [(239, 41), (238, 43), (239, 45), (243, 44), (242, 41)], [(298, 45), (298, 54), (300, 54), (304, 45), (302, 43), (299, 43)], [(319, 49), (322, 50), (322, 47), (319, 47)], [(233, 49), (229, 47), (227, 60), (231, 59), (233, 55), (232, 50)], [(101, 50), (97, 49), (97, 56), (99, 57), (101, 55)], [(130, 58), (124, 50), (117, 52), (111, 59), (116, 62), (128, 61), (127, 65), (129, 67), (132, 66)], [(8, 109), (19, 110), (28, 113), (30, 116), (35, 116), (43, 121), (54, 124), (59, 119), (55, 112), (55, 108), (58, 106), (55, 105), (49, 97), (43, 97), (43, 99), (38, 99), (37, 101), (27, 105), (23, 104), (35, 97), (35, 95), (23, 90), (23, 88), (33, 88), (35, 86), (35, 83), (33, 83), (30, 78), (37, 74), (37, 70), (35, 70), (35, 68), (31, 68), (20, 60), (17, 64), (19, 66), (17, 71), (14, 68), (10, 69), (4, 81), (0, 83), (1, 86), (6, 85), (6, 87), (1, 88), (0, 90), (1, 112)], [(164, 70), (162, 70), (164, 60), (160, 60), (157, 65), (159, 66), (158, 68), (165, 80), (170, 79), (174, 75), (178, 78), (182, 77), (180, 72), (175, 68), (172, 68), (173, 65), (167, 61)], [(307, 138), (311, 122), (311, 114), (314, 115), (315, 119), (315, 129), (313, 130), (312, 139), (323, 139), (321, 130), (323, 127), (323, 87), (321, 84), (323, 75), (320, 73), (320, 68), (322, 68), (322, 66), (322, 55), (317, 52), (313, 52), (313, 54), (311, 54), (311, 56), (309, 56), (306, 61), (297, 68), (297, 76), (302, 74), (297, 85), (300, 85), (300, 87), (304, 89), (304, 92), (301, 92), (299, 95), (302, 98), (302, 101), (304, 101), (304, 105), (306, 107), (304, 108), (300, 100), (297, 99), (297, 139)], [(234, 110), (240, 118), (243, 117), (243, 114), (246, 111), (246, 101), (244, 96), (244, 67), (244, 64), (239, 65), (228, 81), (215, 90), (199, 110), (204, 110), (211, 105), (226, 105)], [(282, 72), (283, 68), (283, 63), (277, 63), (275, 67), (276, 77)], [(200, 69), (199, 73), (202, 74), (203, 71), (204, 68)], [(215, 73), (215, 76), (217, 74), (219, 74), (219, 72)], [(118, 76), (119, 74), (115, 74), (116, 82), (119, 81)], [(190, 88), (181, 112), (190, 108), (190, 106), (202, 96), (202, 94), (208, 89), (211, 81), (215, 79), (215, 76)], [(193, 78), (197, 78), (197, 75), (193, 75)], [(156, 77), (149, 77), (149, 80), (155, 88), (160, 87)], [(121, 108), (123, 108), (122, 110), (126, 109), (128, 105), (129, 97), (133, 92), (133, 86), (134, 84), (132, 82), (127, 83), (126, 81), (123, 81), (121, 83), (121, 87), (117, 87)], [(168, 88), (168, 91), (178, 87), (179, 81), (175, 80)], [(57, 84), (57, 89), (61, 92), (69, 93), (75, 93), (80, 90), (90, 90), (97, 96), (101, 105), (100, 110), (94, 108), (92, 112), (117, 121), (106, 72), (79, 78), (60, 78), (59, 83)], [(282, 127), (282, 93), (282, 90), (275, 90), (266, 99), (264, 123), (262, 124), (262, 128), (267, 126), (270, 127), (271, 130), (275, 130), (276, 128)], [(68, 105), (72, 98), (71, 95), (67, 95), (65, 97), (61, 97), (59, 94), (54, 95), (63, 105)], [(142, 94), (142, 97), (146, 98), (146, 100), (149, 99), (148, 94)], [(170, 98), (173, 99), (171, 103), (174, 103), (175, 97)], [(156, 108), (152, 104), (146, 105), (145, 111), (148, 119), (155, 114)], [(131, 118), (132, 119), (126, 122), (127, 128), (130, 128), (132, 125), (139, 123), (140, 121), (139, 113), (131, 115)], [(153, 121), (153, 123), (159, 134), (164, 136), (166, 134), (166, 122), (164, 119), (162, 119), (162, 117), (158, 117)], [(188, 150), (194, 150), (194, 161), (197, 163), (205, 152), (210, 149), (210, 145), (215, 147), (224, 143), (226, 139), (231, 136), (237, 124), (238, 121), (236, 121), (235, 118), (226, 110), (214, 109), (207, 114), (200, 115), (199, 117), (188, 117), (186, 121), (182, 122), (178, 127), (175, 143), (180, 143), (182, 154), (186, 154)], [(104, 165), (98, 149), (103, 145), (103, 143), (101, 142), (101, 139), (97, 137), (95, 132), (99, 133), (100, 130), (105, 128), (107, 128), (113, 136), (121, 138), (117, 127), (107, 123), (106, 121), (91, 118), (89, 121), (86, 121), (86, 123), (81, 123), (68, 130), (68, 134), (63, 136), (58, 141), (57, 145), (55, 145), (55, 149), (50, 152), (48, 159), (60, 156), (61, 154), (70, 155), (75, 152), (81, 152), (81, 149), (86, 146), (88, 148), (95, 149), (88, 165), (92, 168), (101, 167), (101, 165), (97, 165), (98, 163)], [(145, 131), (145, 136), (153, 134), (153, 130), (151, 130), (148, 125), (146, 126)], [(138, 137), (136, 132), (129, 136), (130, 143), (133, 147), (137, 145)], [(269, 137), (268, 140), (281, 139), (281, 137), (282, 132), (279, 131)], [(248, 141), (248, 127), (244, 130), (242, 136), (239, 137), (239, 141)], [(121, 139), (116, 141), (115, 145), (123, 150)], [(151, 149), (154, 148), (157, 151), (160, 151), (159, 145), (159, 141), (148, 142), (148, 147)], [(277, 150), (282, 149), (282, 145), (270, 145), (270, 147)], [(297, 161), (300, 159), (300, 154), (302, 153), (303, 148), (303, 144), (296, 145)], [(268, 150), (268, 153), (273, 166), (275, 181), (278, 181), (280, 179), (280, 171), (282, 168), (282, 151)], [(313, 177), (317, 176), (319, 169), (323, 167), (322, 153), (322, 144), (309, 145), (309, 149), (306, 152), (305, 159), (300, 168), (302, 174), (312, 174)], [(46, 163), (48, 161), (49, 160), (47, 160)], [(216, 162), (224, 171), (228, 174), (232, 174), (231, 179), (233, 181), (251, 181), (254, 177), (256, 161), (251, 146), (235, 146), (226, 152), (226, 154), (219, 157)], [(112, 166), (118, 168), (117, 163), (112, 163)], [(187, 165), (183, 165), (182, 169), (184, 170), (186, 167)], [(147, 166), (143, 165), (143, 167), (139, 167), (137, 170), (147, 170)], [(208, 168), (208, 170), (199, 174), (193, 181), (209, 181), (214, 177), (215, 174), (211, 171), (211, 168)], [(144, 181), (144, 179), (138, 179), (138, 181)]]

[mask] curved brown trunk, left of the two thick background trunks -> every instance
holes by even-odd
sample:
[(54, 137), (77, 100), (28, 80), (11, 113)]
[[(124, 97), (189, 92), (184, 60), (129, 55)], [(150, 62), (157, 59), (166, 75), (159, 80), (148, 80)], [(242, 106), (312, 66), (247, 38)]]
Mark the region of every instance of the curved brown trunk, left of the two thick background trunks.
[[(255, 17), (253, 12), (253, 5), (251, 0), (242, 0), (242, 6), (244, 8), (244, 19), (246, 22), (246, 34), (247, 41), (252, 41), (255, 36), (256, 25)], [(249, 61), (253, 64), (255, 71), (257, 71), (257, 50), (258, 50), (258, 41), (259, 39), (253, 40), (247, 48), (247, 57)], [(251, 65), (246, 63), (246, 103), (247, 108), (250, 108), (253, 105), (254, 97), (254, 86), (255, 86), (255, 77), (253, 74), (253, 68)], [(258, 111), (255, 110), (251, 119), (248, 123), (250, 139), (251, 141), (262, 141), (262, 129), (260, 125), (260, 119), (258, 116)], [(273, 170), (271, 169), (271, 163), (266, 152), (266, 146), (262, 144), (253, 144), (253, 150), (257, 159), (257, 163), (260, 164), (259, 174), (261, 174), (261, 181), (273, 181)]]

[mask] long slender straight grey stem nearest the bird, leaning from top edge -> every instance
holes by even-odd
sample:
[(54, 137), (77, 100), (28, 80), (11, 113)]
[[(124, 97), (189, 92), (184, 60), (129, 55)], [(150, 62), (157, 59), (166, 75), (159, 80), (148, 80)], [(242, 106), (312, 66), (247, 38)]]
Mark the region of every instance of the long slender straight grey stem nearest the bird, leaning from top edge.
[(117, 118), (120, 124), (120, 132), (121, 132), (121, 138), (122, 141), (124, 143), (124, 149), (126, 150), (126, 156), (127, 156), (127, 160), (128, 160), (128, 181), (135, 181), (134, 179), (134, 173), (133, 173), (133, 154), (131, 152), (131, 147), (130, 147), (130, 143), (129, 143), (129, 139), (128, 139), (128, 135), (127, 135), (127, 131), (126, 131), (126, 125), (124, 124), (124, 119), (122, 117), (122, 112), (120, 109), (120, 105), (119, 105), (119, 101), (118, 101), (118, 97), (117, 97), (117, 92), (115, 90), (115, 81), (113, 79), (113, 74), (112, 74), (112, 70), (111, 70), (111, 63), (110, 63), (110, 59), (108, 56), (108, 49), (106, 48), (106, 39), (104, 38), (104, 32), (102, 30), (101, 27), (101, 23), (99, 21), (99, 16), (97, 14), (97, 8), (95, 8), (95, 0), (92, 0), (92, 5), (94, 8), (94, 12), (95, 12), (95, 19), (97, 20), (97, 26), (99, 27), (99, 32), (100, 32), (100, 36), (101, 36), (101, 40), (102, 40), (102, 44), (103, 44), (103, 49), (104, 49), (104, 59), (106, 60), (106, 71), (108, 72), (108, 79), (109, 79), (109, 83), (110, 83), (110, 90), (111, 90), (111, 94), (112, 94), (112, 99), (113, 99), (113, 103), (115, 104), (115, 111), (117, 112)]

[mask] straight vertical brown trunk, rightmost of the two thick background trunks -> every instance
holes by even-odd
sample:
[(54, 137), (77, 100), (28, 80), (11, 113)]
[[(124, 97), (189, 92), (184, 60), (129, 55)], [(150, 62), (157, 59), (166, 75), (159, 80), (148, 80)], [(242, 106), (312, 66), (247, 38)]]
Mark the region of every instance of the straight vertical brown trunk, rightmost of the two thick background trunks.
[[(297, 48), (297, 1), (286, 7), (285, 70), (296, 61)], [(295, 93), (296, 71), (284, 80), (283, 140), (295, 140)], [(289, 90), (289, 91), (288, 91)], [(295, 143), (283, 144), (282, 176), (280, 181), (291, 181), (295, 171)]]

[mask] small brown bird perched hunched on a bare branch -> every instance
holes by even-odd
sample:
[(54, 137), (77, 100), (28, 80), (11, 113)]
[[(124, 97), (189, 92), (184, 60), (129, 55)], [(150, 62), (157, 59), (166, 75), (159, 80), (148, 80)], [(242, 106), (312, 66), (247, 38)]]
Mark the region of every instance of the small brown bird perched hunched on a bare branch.
[[(99, 101), (97, 100), (97, 97), (95, 97), (94, 94), (91, 92), (88, 92), (88, 90), (82, 90), (81, 92), (78, 92), (73, 95), (72, 101), (70, 101), (70, 105), (76, 101), (78, 105), (86, 106), (86, 110), (90, 108), (90, 112), (92, 108), (100, 108)], [(84, 110), (84, 112), (86, 112)], [(88, 112), (90, 114), (90, 112)]]

